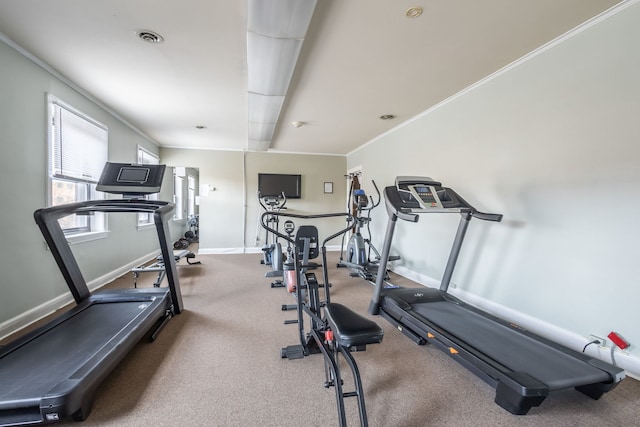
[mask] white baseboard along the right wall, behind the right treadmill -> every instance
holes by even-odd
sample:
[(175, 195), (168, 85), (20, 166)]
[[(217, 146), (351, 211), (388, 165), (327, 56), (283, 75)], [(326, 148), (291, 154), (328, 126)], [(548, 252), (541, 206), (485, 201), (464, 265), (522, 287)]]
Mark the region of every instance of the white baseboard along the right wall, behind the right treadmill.
[[(403, 266), (393, 267), (393, 272), (407, 279), (413, 280), (423, 286), (432, 288), (440, 287), (440, 281), (432, 277), (411, 271)], [(501, 319), (506, 319), (525, 329), (540, 335), (546, 339), (557, 342), (567, 348), (582, 352), (585, 345), (589, 343), (589, 338), (577, 334), (575, 332), (560, 328), (544, 320), (529, 316), (519, 311), (513, 310), (493, 301), (481, 298), (475, 294), (460, 290), (450, 289), (452, 295), (461, 300), (478, 307), (488, 313), (491, 313)], [(611, 363), (611, 349), (597, 345), (590, 345), (585, 349), (585, 354), (595, 359)], [(616, 349), (614, 353), (615, 364), (626, 371), (626, 374), (632, 378), (640, 380), (640, 359), (630, 355), (627, 351)]]

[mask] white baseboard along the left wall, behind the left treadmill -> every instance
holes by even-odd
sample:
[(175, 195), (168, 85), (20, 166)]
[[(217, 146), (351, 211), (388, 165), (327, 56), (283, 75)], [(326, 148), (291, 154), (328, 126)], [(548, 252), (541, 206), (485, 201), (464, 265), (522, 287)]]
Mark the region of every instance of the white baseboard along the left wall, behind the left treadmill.
[[(146, 261), (155, 258), (159, 254), (160, 254), (160, 250), (157, 250), (150, 253), (149, 255), (140, 257), (137, 260), (118, 268), (117, 270), (114, 270), (110, 273), (107, 273), (103, 276), (100, 276), (88, 282), (87, 286), (89, 287), (89, 290), (93, 292), (96, 289), (101, 288), (107, 283), (110, 283), (115, 279), (117, 279), (118, 277), (122, 276), (123, 274), (129, 272), (133, 267), (139, 266), (140, 264), (143, 264)], [(132, 279), (132, 283), (133, 283), (133, 279)], [(27, 310), (26, 312), (14, 318), (11, 318), (9, 320), (6, 320), (0, 323), (0, 339), (3, 339), (13, 333), (20, 331), (23, 328), (26, 328), (32, 323), (37, 322), (38, 320), (50, 315), (54, 311), (72, 302), (73, 302), (73, 296), (71, 295), (71, 293), (65, 292), (64, 294), (58, 295), (57, 297), (47, 302), (44, 302), (36, 307), (33, 307), (32, 309)]]

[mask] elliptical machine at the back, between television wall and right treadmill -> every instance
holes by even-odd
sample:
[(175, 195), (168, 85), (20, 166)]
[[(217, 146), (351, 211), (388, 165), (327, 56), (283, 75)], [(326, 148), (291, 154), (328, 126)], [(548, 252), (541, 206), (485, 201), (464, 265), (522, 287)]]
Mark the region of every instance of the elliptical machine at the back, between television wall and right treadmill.
[[(375, 181), (371, 181), (373, 187), (378, 195), (377, 200), (374, 201), (373, 197), (367, 197), (367, 194), (362, 188), (354, 188), (352, 181), (351, 188), (349, 190), (349, 199), (353, 201), (353, 206), (356, 210), (355, 213), (355, 226), (354, 231), (349, 237), (347, 247), (345, 250), (344, 239), (346, 234), (342, 235), (342, 244), (340, 250), (340, 261), (337, 267), (347, 267), (351, 270), (351, 276), (361, 277), (369, 282), (375, 282), (378, 272), (378, 266), (380, 264), (380, 253), (371, 243), (371, 229), (369, 223), (371, 222), (371, 211), (376, 208), (381, 201), (380, 190)], [(362, 230), (366, 229), (367, 237), (364, 237)], [(371, 258), (373, 252), (374, 258)], [(399, 256), (390, 256), (389, 261), (399, 260)], [(389, 279), (388, 271), (385, 271), (385, 280)]]

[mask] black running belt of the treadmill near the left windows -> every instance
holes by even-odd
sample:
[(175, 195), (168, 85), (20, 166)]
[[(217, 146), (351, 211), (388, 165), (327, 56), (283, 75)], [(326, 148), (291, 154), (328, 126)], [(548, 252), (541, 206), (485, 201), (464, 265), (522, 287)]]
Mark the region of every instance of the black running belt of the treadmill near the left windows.
[(7, 354), (0, 364), (0, 401), (39, 400), (58, 383), (81, 378), (160, 301), (92, 304)]

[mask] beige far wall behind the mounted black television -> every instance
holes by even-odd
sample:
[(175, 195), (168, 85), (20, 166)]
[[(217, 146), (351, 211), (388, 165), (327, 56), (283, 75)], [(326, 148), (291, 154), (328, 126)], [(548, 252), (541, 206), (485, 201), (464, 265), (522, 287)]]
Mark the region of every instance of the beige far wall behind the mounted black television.
[[(258, 227), (258, 173), (302, 175), (302, 198), (289, 200), (287, 212), (311, 215), (345, 211), (344, 156), (163, 148), (160, 157), (171, 166), (197, 168), (201, 188), (215, 188), (200, 195), (203, 253), (259, 251), (264, 244), (265, 232)], [(324, 193), (325, 182), (333, 182), (332, 194)], [(313, 223), (321, 238), (344, 224), (342, 219), (294, 222)]]

